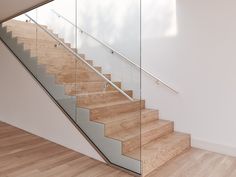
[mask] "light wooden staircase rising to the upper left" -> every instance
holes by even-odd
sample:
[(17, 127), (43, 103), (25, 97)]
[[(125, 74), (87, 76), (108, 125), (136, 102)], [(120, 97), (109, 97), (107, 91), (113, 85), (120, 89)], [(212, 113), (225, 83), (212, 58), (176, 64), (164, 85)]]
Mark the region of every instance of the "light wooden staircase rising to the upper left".
[[(132, 160), (141, 161), (142, 175), (146, 176), (190, 148), (190, 135), (175, 132), (174, 123), (160, 119), (158, 110), (146, 108), (145, 100), (128, 100), (69, 51), (57, 46), (44, 31), (37, 30), (36, 45), (35, 33), (35, 24), (11, 20), (3, 24), (0, 36), (8, 35), (9, 40), (16, 41), (16, 46), (23, 44), (22, 50), (28, 51), (37, 66), (44, 67), (46, 74), (54, 77), (54, 84), (63, 87), (65, 95), (76, 98), (78, 114), (88, 116), (88, 120), (81, 120), (80, 116), (75, 121), (99, 149), (106, 146), (105, 141), (120, 143), (119, 156), (130, 166)], [(84, 54), (80, 56), (86, 58)], [(93, 66), (92, 60), (86, 61)], [(102, 72), (102, 67), (93, 67)], [(111, 74), (104, 76), (112, 78)], [(122, 88), (121, 82), (113, 83)], [(133, 96), (132, 90), (124, 92)], [(99, 140), (97, 127), (102, 129)], [(111, 154), (115, 153), (112, 150), (109, 149)]]

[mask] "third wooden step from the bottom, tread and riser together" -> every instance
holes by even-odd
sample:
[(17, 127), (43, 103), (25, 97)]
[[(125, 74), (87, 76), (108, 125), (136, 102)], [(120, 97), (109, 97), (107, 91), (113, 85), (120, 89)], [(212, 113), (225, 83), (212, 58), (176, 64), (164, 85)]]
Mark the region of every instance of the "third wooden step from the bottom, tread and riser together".
[(94, 121), (104, 124), (105, 135), (109, 136), (117, 132), (138, 127), (141, 123), (145, 124), (158, 119), (158, 110), (142, 109), (135, 112), (120, 114), (117, 116), (96, 119)]

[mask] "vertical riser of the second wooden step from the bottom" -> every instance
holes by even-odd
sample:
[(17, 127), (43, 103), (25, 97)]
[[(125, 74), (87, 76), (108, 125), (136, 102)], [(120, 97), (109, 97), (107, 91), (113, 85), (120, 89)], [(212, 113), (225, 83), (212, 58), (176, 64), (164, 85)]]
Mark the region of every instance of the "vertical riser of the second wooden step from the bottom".
[(140, 140), (140, 135), (139, 135), (137, 137), (134, 137), (132, 139), (122, 142), (123, 154), (126, 154), (134, 149), (140, 148), (140, 144), (145, 145), (157, 138), (160, 138), (164, 135), (168, 135), (172, 133), (173, 131), (174, 131), (174, 125), (173, 123), (169, 123), (168, 125), (163, 126), (159, 129), (157, 128), (157, 129), (145, 132), (145, 133), (142, 132), (141, 140)]

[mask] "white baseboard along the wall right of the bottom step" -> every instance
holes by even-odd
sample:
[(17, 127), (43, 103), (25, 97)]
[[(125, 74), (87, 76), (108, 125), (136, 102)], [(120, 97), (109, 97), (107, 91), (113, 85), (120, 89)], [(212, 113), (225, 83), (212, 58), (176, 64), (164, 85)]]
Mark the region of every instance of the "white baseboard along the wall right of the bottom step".
[(192, 147), (236, 157), (236, 147), (220, 145), (199, 139), (192, 139)]

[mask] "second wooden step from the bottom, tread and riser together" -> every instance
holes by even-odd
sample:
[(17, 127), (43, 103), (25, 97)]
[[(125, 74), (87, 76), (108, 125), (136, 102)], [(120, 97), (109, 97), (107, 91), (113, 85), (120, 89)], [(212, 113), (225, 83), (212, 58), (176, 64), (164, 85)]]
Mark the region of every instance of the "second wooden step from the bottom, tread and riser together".
[(161, 136), (170, 134), (173, 130), (173, 122), (154, 120), (145, 124), (139, 124), (131, 129), (116, 132), (108, 137), (121, 141), (122, 152), (126, 154), (136, 148), (140, 148), (140, 145), (145, 145)]

